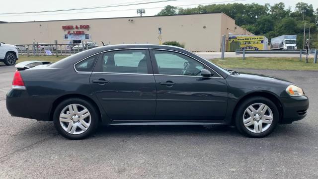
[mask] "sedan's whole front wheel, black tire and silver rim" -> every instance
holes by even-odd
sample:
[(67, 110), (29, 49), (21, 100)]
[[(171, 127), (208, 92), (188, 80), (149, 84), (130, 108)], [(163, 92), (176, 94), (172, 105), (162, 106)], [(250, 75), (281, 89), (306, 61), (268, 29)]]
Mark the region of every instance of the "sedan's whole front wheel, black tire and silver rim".
[(248, 137), (265, 137), (277, 126), (279, 111), (270, 99), (255, 96), (240, 103), (235, 120), (240, 133)]

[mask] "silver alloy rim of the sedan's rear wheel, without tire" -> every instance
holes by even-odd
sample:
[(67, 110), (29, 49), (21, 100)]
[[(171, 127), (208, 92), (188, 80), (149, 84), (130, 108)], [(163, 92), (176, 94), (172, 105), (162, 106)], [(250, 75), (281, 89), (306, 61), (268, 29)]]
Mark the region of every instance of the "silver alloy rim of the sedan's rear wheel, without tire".
[(70, 104), (63, 108), (60, 113), (60, 124), (70, 134), (85, 132), (91, 123), (88, 109), (80, 104)]

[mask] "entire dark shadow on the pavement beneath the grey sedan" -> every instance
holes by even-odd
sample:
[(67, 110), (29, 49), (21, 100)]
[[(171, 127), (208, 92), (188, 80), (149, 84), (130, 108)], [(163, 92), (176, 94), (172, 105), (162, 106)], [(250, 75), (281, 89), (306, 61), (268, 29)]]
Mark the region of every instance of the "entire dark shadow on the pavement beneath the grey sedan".
[[(309, 131), (308, 126), (294, 123), (288, 125), (278, 125), (274, 133), (268, 137), (282, 138), (302, 138), (310, 135), (313, 131)], [(36, 129), (37, 128), (37, 129)], [(52, 122), (39, 121), (31, 125), (24, 126), (19, 132), (28, 139), (33, 136), (53, 137), (58, 135), (54, 129)], [(227, 125), (136, 125), (136, 126), (99, 126), (97, 131), (92, 135), (93, 138), (109, 138), (109, 137), (131, 137), (131, 136), (220, 136), (220, 137), (243, 137), (234, 126)], [(29, 137), (28, 137), (29, 136)], [(268, 138), (266, 137), (266, 138)], [(89, 140), (91, 137), (88, 137)]]

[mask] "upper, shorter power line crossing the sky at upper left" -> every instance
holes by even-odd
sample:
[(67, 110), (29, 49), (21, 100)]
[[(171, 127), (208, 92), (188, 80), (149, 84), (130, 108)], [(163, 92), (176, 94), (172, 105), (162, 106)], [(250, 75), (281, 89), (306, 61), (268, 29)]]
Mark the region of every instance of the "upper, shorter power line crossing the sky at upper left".
[[(130, 3), (130, 4), (124, 4), (124, 5), (120, 5), (120, 4), (118, 5), (118, 4), (117, 4), (117, 5), (108, 5), (108, 6), (100, 6), (100, 7), (82, 7), (82, 8), (61, 9), (61, 10), (45, 10), (45, 11), (34, 11), (34, 12), (0, 13), (0, 15), (7, 15), (7, 14), (27, 14), (27, 13), (43, 13), (43, 12), (59, 12), (59, 11), (96, 9), (96, 8), (106, 8), (106, 7), (120, 7), (120, 6), (150, 4), (150, 3), (167, 2), (167, 1), (175, 1), (175, 0), (158, 0), (158, 1), (152, 1), (152, 2)], [(128, 2), (127, 2), (127, 3), (128, 3)]]

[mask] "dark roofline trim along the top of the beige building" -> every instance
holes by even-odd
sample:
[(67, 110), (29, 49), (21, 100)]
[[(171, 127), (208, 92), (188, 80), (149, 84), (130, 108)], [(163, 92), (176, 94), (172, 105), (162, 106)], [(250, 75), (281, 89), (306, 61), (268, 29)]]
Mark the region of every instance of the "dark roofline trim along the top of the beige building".
[[(120, 19), (120, 18), (149, 18), (149, 17), (167, 17), (167, 16), (184, 16), (184, 15), (201, 15), (201, 14), (225, 14), (223, 12), (209, 13), (191, 13), (191, 14), (175, 14), (175, 15), (151, 15), (151, 16), (130, 16), (130, 17), (105, 17), (105, 18), (85, 18), (85, 19), (64, 19), (64, 20), (41, 20), (41, 21), (22, 21), (22, 22), (6, 22), (6, 23), (31, 23), (31, 22), (55, 22), (55, 21), (70, 21), (70, 20), (99, 20), (99, 19)], [(226, 14), (225, 14), (226, 15)], [(231, 18), (231, 17), (229, 17)], [(232, 18), (231, 18), (232, 19)], [(233, 19), (234, 20), (234, 19)]]

